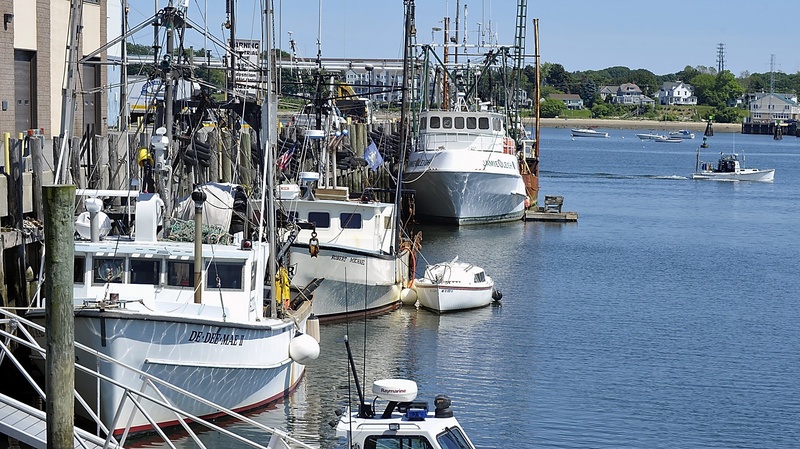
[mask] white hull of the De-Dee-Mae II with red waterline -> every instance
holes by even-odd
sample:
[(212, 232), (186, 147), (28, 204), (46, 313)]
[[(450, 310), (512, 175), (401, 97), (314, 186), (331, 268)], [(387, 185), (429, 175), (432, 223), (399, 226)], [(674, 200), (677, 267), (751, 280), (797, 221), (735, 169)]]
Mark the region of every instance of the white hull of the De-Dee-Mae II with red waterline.
[[(296, 316), (300, 330), (305, 330), (309, 315), (310, 304)], [(304, 367), (290, 358), (288, 348), (297, 329), (291, 320), (231, 323), (125, 310), (76, 309), (75, 313), (76, 342), (234, 411), (278, 401), (296, 387)], [(116, 382), (98, 385), (93, 376), (81, 372), (75, 376), (78, 393), (116, 435), (122, 434), (129, 422), (130, 433), (153, 430), (130, 400), (123, 403), (126, 390), (134, 395), (163, 395), (165, 402), (191, 415), (209, 418), (220, 414), (218, 409), (166, 387), (159, 385), (157, 392), (136, 372), (103, 362), (92, 352), (77, 350), (76, 359)], [(121, 403), (122, 412), (114, 422)], [(148, 400), (141, 400), (140, 405), (158, 427), (179, 424), (169, 409)]]

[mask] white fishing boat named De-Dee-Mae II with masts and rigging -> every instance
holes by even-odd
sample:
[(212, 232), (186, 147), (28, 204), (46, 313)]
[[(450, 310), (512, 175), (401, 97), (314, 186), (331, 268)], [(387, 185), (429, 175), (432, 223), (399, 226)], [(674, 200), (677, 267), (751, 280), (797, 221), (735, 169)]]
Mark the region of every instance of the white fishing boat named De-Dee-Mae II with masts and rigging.
[[(176, 14), (172, 7), (160, 13), (169, 42), (175, 23), (180, 23), (174, 22)], [(169, 59), (164, 61), (169, 73)], [(96, 367), (106, 381), (81, 371), (75, 386), (90, 405), (88, 414), (98, 416), (109, 433), (185, 425), (170, 408), (131, 400), (131, 395), (161, 398), (196, 417), (218, 416), (218, 406), (243, 411), (275, 402), (297, 386), (305, 365), (319, 354), (317, 340), (309, 335), (309, 326), (316, 323), (311, 300), (302, 295), (293, 301), (284, 294), (288, 282), (278, 276), (286, 267), (276, 263), (271, 212), (275, 149), (269, 144), (275, 122), (269, 117), (274, 117), (277, 101), (269, 97), (261, 106), (268, 137), (261, 148), (264, 176), (254, 187), (258, 209), (267, 214), (251, 210), (240, 184), (190, 182), (202, 179), (202, 166), (183, 167), (179, 163), (185, 158), (179, 155), (189, 150), (196, 155), (203, 148), (173, 127), (172, 114), (166, 114), (165, 126), (138, 151), (138, 165), (132, 164), (137, 167), (137, 189), (77, 190), (78, 204), (86, 211), (76, 220), (73, 242), (74, 333), (75, 341), (88, 349), (76, 350), (76, 359)], [(70, 97), (65, 93), (65, 98)], [(170, 112), (172, 99), (167, 89), (164, 102)], [(70, 109), (68, 101), (64, 109)], [(70, 121), (64, 123), (72, 129)], [(195, 126), (202, 123), (198, 120)], [(173, 173), (174, 166), (179, 169)], [(189, 175), (195, 178), (182, 178)], [(193, 186), (191, 194), (174, 201), (181, 186)], [(106, 210), (118, 197), (126, 210)], [(37, 303), (29, 317), (42, 323), (46, 301), (38, 298)], [(103, 362), (107, 359), (118, 364)]]

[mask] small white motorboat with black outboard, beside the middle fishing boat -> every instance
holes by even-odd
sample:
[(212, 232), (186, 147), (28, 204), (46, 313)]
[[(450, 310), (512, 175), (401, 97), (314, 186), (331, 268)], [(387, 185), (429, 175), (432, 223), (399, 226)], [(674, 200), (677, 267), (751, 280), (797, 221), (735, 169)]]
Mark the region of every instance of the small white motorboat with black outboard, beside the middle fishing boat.
[(502, 298), (483, 268), (460, 262), (458, 256), (450, 262), (428, 265), (411, 290), (411, 298), (420, 307), (439, 313), (484, 307)]

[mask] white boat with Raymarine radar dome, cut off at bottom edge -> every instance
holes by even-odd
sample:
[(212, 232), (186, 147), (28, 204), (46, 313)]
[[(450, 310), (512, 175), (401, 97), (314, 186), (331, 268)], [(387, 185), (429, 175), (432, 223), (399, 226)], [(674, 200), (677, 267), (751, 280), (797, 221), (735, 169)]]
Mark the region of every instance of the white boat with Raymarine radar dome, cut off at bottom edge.
[(345, 407), (335, 422), (336, 437), (346, 441), (347, 447), (475, 449), (447, 395), (435, 396), (431, 407), (427, 401), (417, 399), (417, 383), (413, 380), (380, 379), (372, 384), (374, 399), (365, 400), (347, 336), (345, 344), (359, 401), (356, 410)]

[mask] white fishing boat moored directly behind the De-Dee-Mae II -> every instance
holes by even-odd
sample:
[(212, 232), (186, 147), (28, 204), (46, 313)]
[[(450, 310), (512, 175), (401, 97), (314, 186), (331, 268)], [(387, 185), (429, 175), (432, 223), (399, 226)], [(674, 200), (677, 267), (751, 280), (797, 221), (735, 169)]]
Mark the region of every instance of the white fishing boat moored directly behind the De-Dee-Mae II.
[[(351, 315), (376, 315), (400, 305), (400, 292), (411, 281), (412, 246), (395, 240), (397, 209), (373, 200), (320, 198), (331, 189), (315, 189), (318, 173), (300, 174), (303, 186), (280, 186), (284, 213), (297, 229), (288, 251), (296, 266), (292, 284), (316, 288), (314, 314), (323, 321)], [(316, 192), (316, 194), (315, 194)], [(341, 193), (341, 192), (340, 192)]]

